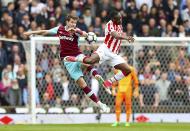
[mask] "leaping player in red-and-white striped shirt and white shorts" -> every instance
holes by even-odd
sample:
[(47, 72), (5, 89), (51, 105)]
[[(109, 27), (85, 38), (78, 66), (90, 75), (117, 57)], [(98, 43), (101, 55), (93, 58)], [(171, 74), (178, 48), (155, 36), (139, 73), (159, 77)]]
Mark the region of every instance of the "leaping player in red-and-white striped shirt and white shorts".
[(117, 11), (113, 11), (110, 15), (112, 19), (106, 24), (105, 28), (105, 40), (102, 45), (93, 53), (90, 57), (88, 56), (67, 56), (65, 61), (79, 61), (85, 64), (95, 64), (99, 62), (107, 62), (115, 69), (120, 70), (114, 77), (104, 81), (105, 87), (111, 87), (112, 83), (119, 81), (125, 76), (131, 73), (131, 70), (125, 60), (118, 55), (119, 48), (121, 46), (121, 40), (127, 40), (128, 42), (134, 42), (132, 36), (123, 36), (122, 29), (122, 17)]

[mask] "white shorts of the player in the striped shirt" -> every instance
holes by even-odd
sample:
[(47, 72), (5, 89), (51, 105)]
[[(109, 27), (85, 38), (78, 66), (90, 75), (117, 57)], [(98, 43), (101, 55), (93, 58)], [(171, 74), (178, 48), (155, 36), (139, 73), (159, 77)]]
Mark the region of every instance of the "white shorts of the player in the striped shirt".
[(113, 53), (105, 44), (101, 44), (95, 51), (100, 57), (99, 63), (107, 62), (110, 66), (126, 63), (126, 61), (118, 54)]

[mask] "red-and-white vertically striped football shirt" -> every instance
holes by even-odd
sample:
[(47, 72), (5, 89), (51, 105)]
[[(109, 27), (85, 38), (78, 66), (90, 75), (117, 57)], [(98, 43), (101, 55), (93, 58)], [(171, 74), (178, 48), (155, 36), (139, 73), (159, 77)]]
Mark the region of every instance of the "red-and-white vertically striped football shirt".
[(116, 25), (113, 21), (110, 20), (105, 27), (104, 43), (113, 53), (118, 53), (121, 45), (121, 40), (111, 36), (111, 32), (113, 31), (117, 31), (119, 35), (122, 35), (123, 27), (122, 25)]

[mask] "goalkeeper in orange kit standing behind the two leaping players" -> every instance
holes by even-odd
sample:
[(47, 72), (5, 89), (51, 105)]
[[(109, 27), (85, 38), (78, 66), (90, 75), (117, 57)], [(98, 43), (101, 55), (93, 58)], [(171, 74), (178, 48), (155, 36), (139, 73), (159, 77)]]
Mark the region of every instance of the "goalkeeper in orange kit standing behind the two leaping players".
[[(133, 95), (134, 97), (139, 96), (138, 89), (138, 78), (135, 72), (134, 67), (129, 66), (131, 73), (120, 80), (118, 83), (113, 83), (112, 94), (116, 96), (115, 100), (115, 113), (116, 113), (116, 122), (112, 126), (119, 126), (120, 124), (120, 114), (121, 114), (121, 104), (125, 100), (125, 109), (126, 109), (126, 123), (125, 126), (130, 126), (129, 120), (132, 112), (132, 85), (134, 85)], [(118, 70), (115, 70), (115, 73), (118, 73)], [(116, 87), (117, 93), (116, 93)]]

